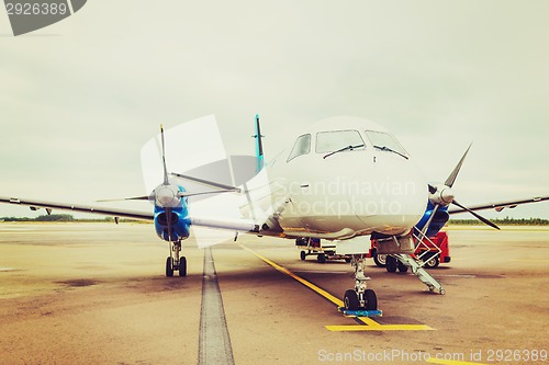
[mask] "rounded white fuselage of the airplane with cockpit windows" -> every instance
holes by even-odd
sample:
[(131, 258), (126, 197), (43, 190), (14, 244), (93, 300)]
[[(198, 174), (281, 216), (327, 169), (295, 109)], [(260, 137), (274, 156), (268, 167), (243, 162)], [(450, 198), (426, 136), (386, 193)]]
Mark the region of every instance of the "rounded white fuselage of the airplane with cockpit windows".
[[(380, 146), (381, 141), (392, 146)], [(291, 144), (266, 167), (270, 192), (261, 206), (270, 205), (279, 225), (276, 232), (267, 221), (271, 232), (266, 229), (266, 235), (324, 239), (374, 231), (403, 235), (425, 214), (425, 179), (380, 125), (334, 117), (311, 125)], [(354, 148), (333, 153), (348, 146)]]

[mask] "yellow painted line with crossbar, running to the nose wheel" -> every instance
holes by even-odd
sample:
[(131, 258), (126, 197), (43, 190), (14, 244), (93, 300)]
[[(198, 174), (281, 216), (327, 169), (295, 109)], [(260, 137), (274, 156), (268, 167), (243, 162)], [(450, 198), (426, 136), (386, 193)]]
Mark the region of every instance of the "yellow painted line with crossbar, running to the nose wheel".
[[(260, 255), (259, 253), (256, 253), (251, 249), (248, 249), (247, 247), (245, 247), (243, 244), (238, 244), (238, 246), (240, 248), (243, 248), (244, 250), (248, 251), (249, 253), (251, 253), (253, 255), (255, 255), (256, 258), (262, 260), (265, 263), (271, 265), (272, 267), (274, 267), (279, 272), (287, 274), (288, 276), (290, 276), (291, 278), (295, 280), (296, 282), (303, 284), (304, 286), (306, 286), (311, 290), (313, 290), (313, 292), (320, 294), (321, 296), (323, 296), (324, 298), (328, 299), (329, 301), (335, 304), (338, 308), (344, 306), (344, 303), (341, 299), (333, 296), (332, 294), (324, 290), (323, 288), (314, 285), (311, 282), (307, 282), (303, 277), (292, 273), (290, 270), (288, 270), (283, 266), (280, 266), (276, 262), (272, 262), (269, 259), (264, 258), (262, 255)], [(328, 331), (334, 331), (334, 332), (336, 332), (336, 331), (337, 332), (341, 332), (341, 331), (354, 331), (354, 332), (357, 332), (357, 331), (433, 331), (434, 330), (433, 328), (430, 328), (426, 324), (381, 324), (381, 323), (378, 323), (373, 319), (368, 318), (368, 317), (352, 317), (352, 316), (346, 316), (346, 317), (356, 319), (357, 321), (362, 322), (362, 324), (325, 326), (326, 329)]]

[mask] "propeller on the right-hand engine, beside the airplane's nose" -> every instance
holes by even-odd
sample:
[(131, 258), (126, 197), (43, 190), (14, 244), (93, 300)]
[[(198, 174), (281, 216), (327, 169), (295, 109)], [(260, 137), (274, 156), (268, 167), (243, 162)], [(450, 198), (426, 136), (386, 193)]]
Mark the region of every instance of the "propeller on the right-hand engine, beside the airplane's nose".
[(427, 231), (427, 229), (430, 225), (430, 221), (433, 220), (433, 217), (435, 216), (435, 213), (438, 210), (438, 208), (440, 206), (448, 206), (450, 204), (455, 204), (455, 205), (459, 206), (460, 208), (469, 212), (470, 214), (472, 214), (477, 219), (479, 219), (483, 224), (485, 224), (492, 228), (500, 229), (500, 227), (497, 227), (493, 221), (490, 221), (489, 219), (482, 217), (480, 214), (461, 205), (460, 203), (458, 203), (455, 199), (455, 195), (453, 195), (451, 187), (453, 186), (453, 183), (456, 182), (456, 179), (458, 178), (459, 171), (461, 170), (461, 166), (463, 164), (463, 161), (466, 160), (467, 153), (469, 152), (469, 149), (471, 148), (471, 146), (472, 146), (472, 144), (469, 145), (466, 152), (463, 153), (463, 156), (459, 160), (458, 164), (456, 166), (453, 171), (450, 173), (448, 179), (446, 179), (444, 184), (440, 184), (440, 185), (428, 184), (427, 185), (429, 193), (430, 193), (429, 199), (435, 205), (435, 207), (433, 208), (433, 213), (432, 213), (429, 219), (427, 220), (427, 223), (423, 229), (424, 235)]

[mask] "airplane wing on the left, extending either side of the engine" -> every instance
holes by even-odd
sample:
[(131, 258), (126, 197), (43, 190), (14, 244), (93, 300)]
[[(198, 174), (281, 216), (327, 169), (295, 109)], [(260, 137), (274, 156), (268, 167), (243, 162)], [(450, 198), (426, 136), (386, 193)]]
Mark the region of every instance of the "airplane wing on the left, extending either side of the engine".
[[(31, 209), (45, 208), (48, 214), (52, 213), (53, 209), (61, 209), (61, 210), (74, 210), (80, 213), (90, 213), (102, 216), (112, 216), (119, 218), (150, 220), (150, 221), (154, 220), (155, 218), (155, 215), (150, 212), (105, 208), (105, 207), (98, 207), (90, 205), (56, 203), (56, 202), (26, 199), (19, 197), (0, 196), (0, 203), (30, 206)], [(250, 231), (250, 232), (259, 230), (258, 226), (255, 225), (253, 221), (244, 219), (223, 219), (223, 218), (216, 219), (216, 218), (190, 217), (190, 220), (191, 225), (200, 227)]]

